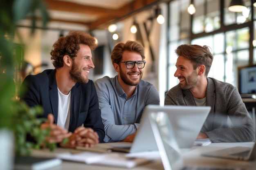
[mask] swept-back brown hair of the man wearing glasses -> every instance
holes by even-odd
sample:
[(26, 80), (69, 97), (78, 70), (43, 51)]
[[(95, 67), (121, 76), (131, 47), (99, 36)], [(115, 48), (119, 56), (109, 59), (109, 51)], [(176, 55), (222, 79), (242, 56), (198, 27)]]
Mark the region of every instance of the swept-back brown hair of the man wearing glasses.
[(119, 63), (122, 60), (124, 51), (137, 52), (141, 55), (142, 60), (145, 59), (144, 47), (135, 41), (119, 42), (115, 45), (111, 53), (112, 64)]

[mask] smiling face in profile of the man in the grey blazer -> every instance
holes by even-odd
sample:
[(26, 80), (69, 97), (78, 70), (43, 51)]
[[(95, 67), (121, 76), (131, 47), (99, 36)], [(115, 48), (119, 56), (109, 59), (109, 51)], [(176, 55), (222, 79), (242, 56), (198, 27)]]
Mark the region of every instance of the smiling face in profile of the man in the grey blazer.
[(180, 87), (183, 90), (195, 88), (199, 81), (198, 68), (194, 70), (191, 61), (183, 56), (177, 58), (176, 67), (174, 76), (180, 80)]

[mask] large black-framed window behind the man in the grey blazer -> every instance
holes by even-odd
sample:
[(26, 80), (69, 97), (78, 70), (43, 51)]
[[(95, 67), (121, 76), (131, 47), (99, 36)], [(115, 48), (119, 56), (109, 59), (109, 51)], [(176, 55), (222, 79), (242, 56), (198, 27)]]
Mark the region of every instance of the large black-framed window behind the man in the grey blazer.
[(228, 11), (230, 1), (193, 0), (196, 9), (193, 15), (186, 11), (191, 0), (169, 3), (168, 89), (178, 84), (174, 77), (177, 60), (174, 51), (181, 44), (208, 45), (214, 57), (208, 76), (234, 86), (237, 86), (237, 68), (256, 64), (255, 7), (251, 0), (244, 0), (247, 10), (234, 13)]

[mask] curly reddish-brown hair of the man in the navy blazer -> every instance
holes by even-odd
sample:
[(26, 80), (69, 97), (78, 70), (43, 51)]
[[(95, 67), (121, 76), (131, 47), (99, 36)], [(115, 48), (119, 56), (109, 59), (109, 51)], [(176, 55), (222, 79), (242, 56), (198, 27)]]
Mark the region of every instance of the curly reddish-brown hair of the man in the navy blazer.
[(89, 33), (83, 31), (70, 31), (66, 36), (60, 37), (54, 44), (54, 49), (51, 51), (52, 64), (55, 68), (63, 67), (63, 57), (68, 55), (74, 60), (80, 49), (79, 44), (85, 44), (90, 47), (91, 50), (96, 49), (97, 43)]

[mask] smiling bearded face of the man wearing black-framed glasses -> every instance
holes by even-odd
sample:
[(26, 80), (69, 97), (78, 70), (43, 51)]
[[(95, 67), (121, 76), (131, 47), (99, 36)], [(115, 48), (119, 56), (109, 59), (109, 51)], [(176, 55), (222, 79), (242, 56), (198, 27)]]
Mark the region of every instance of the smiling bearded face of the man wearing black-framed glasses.
[[(139, 53), (132, 51), (124, 51), (121, 62), (126, 61), (142, 61), (142, 57)], [(115, 63), (117, 64), (117, 63)], [(139, 69), (137, 64), (132, 69), (126, 68), (125, 63), (119, 63), (119, 76), (120, 80), (129, 86), (137, 86), (143, 75), (143, 68)], [(116, 69), (117, 70), (117, 69)]]

